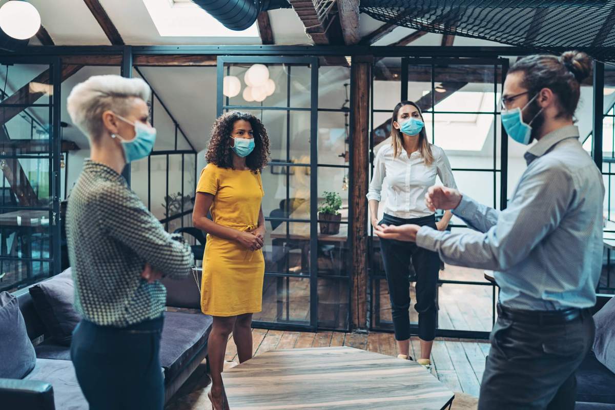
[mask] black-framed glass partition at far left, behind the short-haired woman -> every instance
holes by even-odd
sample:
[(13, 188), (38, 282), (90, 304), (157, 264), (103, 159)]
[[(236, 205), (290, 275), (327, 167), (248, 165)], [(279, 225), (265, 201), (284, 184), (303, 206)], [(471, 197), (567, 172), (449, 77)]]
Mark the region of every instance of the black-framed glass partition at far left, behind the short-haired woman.
[(59, 270), (58, 61), (0, 58), (0, 291)]

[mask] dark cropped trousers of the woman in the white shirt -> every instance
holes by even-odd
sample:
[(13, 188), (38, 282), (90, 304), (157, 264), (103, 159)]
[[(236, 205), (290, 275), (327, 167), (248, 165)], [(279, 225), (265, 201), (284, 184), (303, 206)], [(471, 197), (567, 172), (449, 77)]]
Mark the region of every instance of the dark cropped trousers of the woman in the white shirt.
[[(415, 224), (435, 229), (434, 215), (402, 219), (384, 214), (384, 219), (380, 223), (394, 226)], [(436, 252), (419, 248), (414, 242), (391, 239), (380, 239), (380, 250), (389, 285), (395, 339), (398, 341), (410, 339), (409, 275), (410, 264), (413, 264), (416, 272), (415, 310), (419, 313), (419, 337), (424, 341), (434, 340), (438, 315), (435, 290), (440, 271), (440, 256)]]

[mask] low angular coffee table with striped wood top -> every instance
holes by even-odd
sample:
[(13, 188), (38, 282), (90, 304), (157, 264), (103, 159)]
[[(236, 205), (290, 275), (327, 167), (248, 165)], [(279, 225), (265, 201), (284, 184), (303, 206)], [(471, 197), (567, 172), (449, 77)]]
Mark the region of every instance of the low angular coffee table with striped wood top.
[(454, 398), (415, 361), (352, 347), (273, 350), (222, 377), (233, 410), (442, 410)]

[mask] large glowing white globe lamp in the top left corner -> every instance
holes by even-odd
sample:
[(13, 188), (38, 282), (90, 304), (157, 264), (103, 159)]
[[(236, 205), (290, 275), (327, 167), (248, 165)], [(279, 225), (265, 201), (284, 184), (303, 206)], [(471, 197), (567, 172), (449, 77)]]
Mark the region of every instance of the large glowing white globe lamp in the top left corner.
[(10, 0), (0, 7), (0, 28), (14, 39), (29, 39), (41, 28), (41, 15), (26, 1)]

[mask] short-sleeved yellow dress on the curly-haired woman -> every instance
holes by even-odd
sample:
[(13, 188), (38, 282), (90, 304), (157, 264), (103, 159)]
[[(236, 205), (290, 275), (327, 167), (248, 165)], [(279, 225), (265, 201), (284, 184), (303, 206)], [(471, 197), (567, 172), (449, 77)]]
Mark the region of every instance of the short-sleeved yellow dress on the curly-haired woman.
[[(263, 200), (260, 173), (207, 164), (200, 173), (197, 192), (214, 195), (213, 222), (238, 231), (258, 226)], [(236, 316), (261, 311), (265, 262), (263, 251), (207, 235), (203, 256), (200, 309), (206, 315)]]

